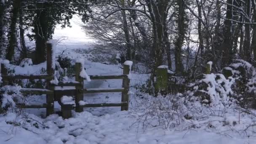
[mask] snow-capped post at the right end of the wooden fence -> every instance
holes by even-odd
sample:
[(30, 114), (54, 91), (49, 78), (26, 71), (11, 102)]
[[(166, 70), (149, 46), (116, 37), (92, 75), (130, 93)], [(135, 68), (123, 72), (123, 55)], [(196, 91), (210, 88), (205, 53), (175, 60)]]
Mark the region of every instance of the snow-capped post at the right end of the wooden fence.
[(130, 75), (131, 75), (131, 66), (132, 61), (125, 61), (123, 64), (123, 74), (128, 75), (128, 77), (123, 78), (123, 88), (122, 92), (122, 103), (125, 103), (121, 106), (121, 110), (128, 110), (129, 108), (129, 86), (130, 86)]

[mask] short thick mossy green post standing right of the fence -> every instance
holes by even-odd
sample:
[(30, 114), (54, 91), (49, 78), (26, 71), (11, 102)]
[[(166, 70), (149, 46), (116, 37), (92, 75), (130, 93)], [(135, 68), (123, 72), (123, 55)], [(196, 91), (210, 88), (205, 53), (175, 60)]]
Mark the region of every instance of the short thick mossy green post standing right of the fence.
[(159, 66), (156, 70), (155, 94), (161, 91), (167, 91), (168, 88), (168, 67)]

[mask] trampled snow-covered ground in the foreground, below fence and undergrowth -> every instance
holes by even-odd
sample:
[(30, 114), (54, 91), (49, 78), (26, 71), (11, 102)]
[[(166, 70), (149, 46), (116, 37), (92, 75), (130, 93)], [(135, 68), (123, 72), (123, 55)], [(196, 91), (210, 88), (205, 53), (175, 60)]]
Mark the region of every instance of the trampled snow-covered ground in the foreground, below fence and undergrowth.
[[(0, 117), (1, 144), (255, 144), (253, 137), (240, 138), (221, 135), (202, 129), (170, 131), (162, 128), (148, 128), (143, 131), (134, 123), (133, 112), (115, 112), (95, 116), (90, 112), (76, 113), (74, 118), (63, 120), (51, 115), (42, 120), (34, 118), (28, 123), (23, 119), (23, 127), (6, 125), (6, 121), (16, 118), (15, 114)], [(37, 123), (37, 124), (35, 124)], [(35, 128), (38, 125), (39, 128)], [(46, 127), (46, 128), (44, 128)], [(234, 132), (235, 133), (235, 132)], [(234, 136), (234, 135), (233, 135)]]

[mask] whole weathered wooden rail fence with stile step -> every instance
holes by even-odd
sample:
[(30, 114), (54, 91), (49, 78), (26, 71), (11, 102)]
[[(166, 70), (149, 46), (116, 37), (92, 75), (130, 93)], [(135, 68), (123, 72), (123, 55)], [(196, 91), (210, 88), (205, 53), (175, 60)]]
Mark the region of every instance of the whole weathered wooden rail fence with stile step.
[[(45, 79), (46, 80), (46, 89), (40, 88), (22, 88), (21, 93), (24, 94), (35, 94), (42, 95), (46, 94), (46, 101), (44, 104), (39, 105), (25, 105), (25, 104), (16, 104), (20, 108), (46, 108), (46, 115), (51, 115), (54, 113), (54, 101), (58, 101), (61, 105), (62, 117), (69, 118), (71, 117), (71, 110), (74, 109), (74, 104), (62, 104), (62, 96), (74, 96), (75, 98), (75, 111), (83, 112), (85, 107), (121, 107), (121, 110), (128, 110), (129, 105), (129, 85), (130, 80), (128, 78), (130, 72), (130, 65), (125, 65), (123, 67), (122, 75), (90, 75), (91, 80), (110, 80), (110, 79), (122, 79), (123, 85), (121, 88), (84, 88), (84, 78), (80, 76), (80, 72), (83, 69), (83, 66), (80, 62), (75, 63), (75, 81), (69, 83), (58, 83), (53, 84), (51, 80), (54, 79), (54, 69), (53, 69), (53, 54), (52, 54), (52, 44), (47, 43), (47, 75), (8, 75), (8, 69), (5, 67), (5, 64), (1, 64), (1, 74), (3, 78), (3, 84), (11, 84), (11, 81), (16, 79)], [(55, 89), (56, 86), (74, 86), (75, 89), (69, 90), (59, 90)], [(108, 92), (121, 92), (121, 102), (120, 103), (100, 103), (100, 104), (83, 104), (85, 93), (108, 93)]]

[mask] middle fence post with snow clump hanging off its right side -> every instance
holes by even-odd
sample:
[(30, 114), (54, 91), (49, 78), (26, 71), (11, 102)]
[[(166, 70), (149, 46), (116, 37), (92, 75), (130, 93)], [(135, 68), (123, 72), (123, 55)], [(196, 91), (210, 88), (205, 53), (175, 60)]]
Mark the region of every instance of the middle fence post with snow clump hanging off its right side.
[(75, 63), (75, 81), (79, 82), (80, 85), (76, 86), (76, 94), (75, 94), (75, 111), (83, 112), (83, 107), (79, 106), (79, 101), (83, 101), (83, 78), (80, 77), (80, 72), (82, 71), (82, 64), (80, 62)]

